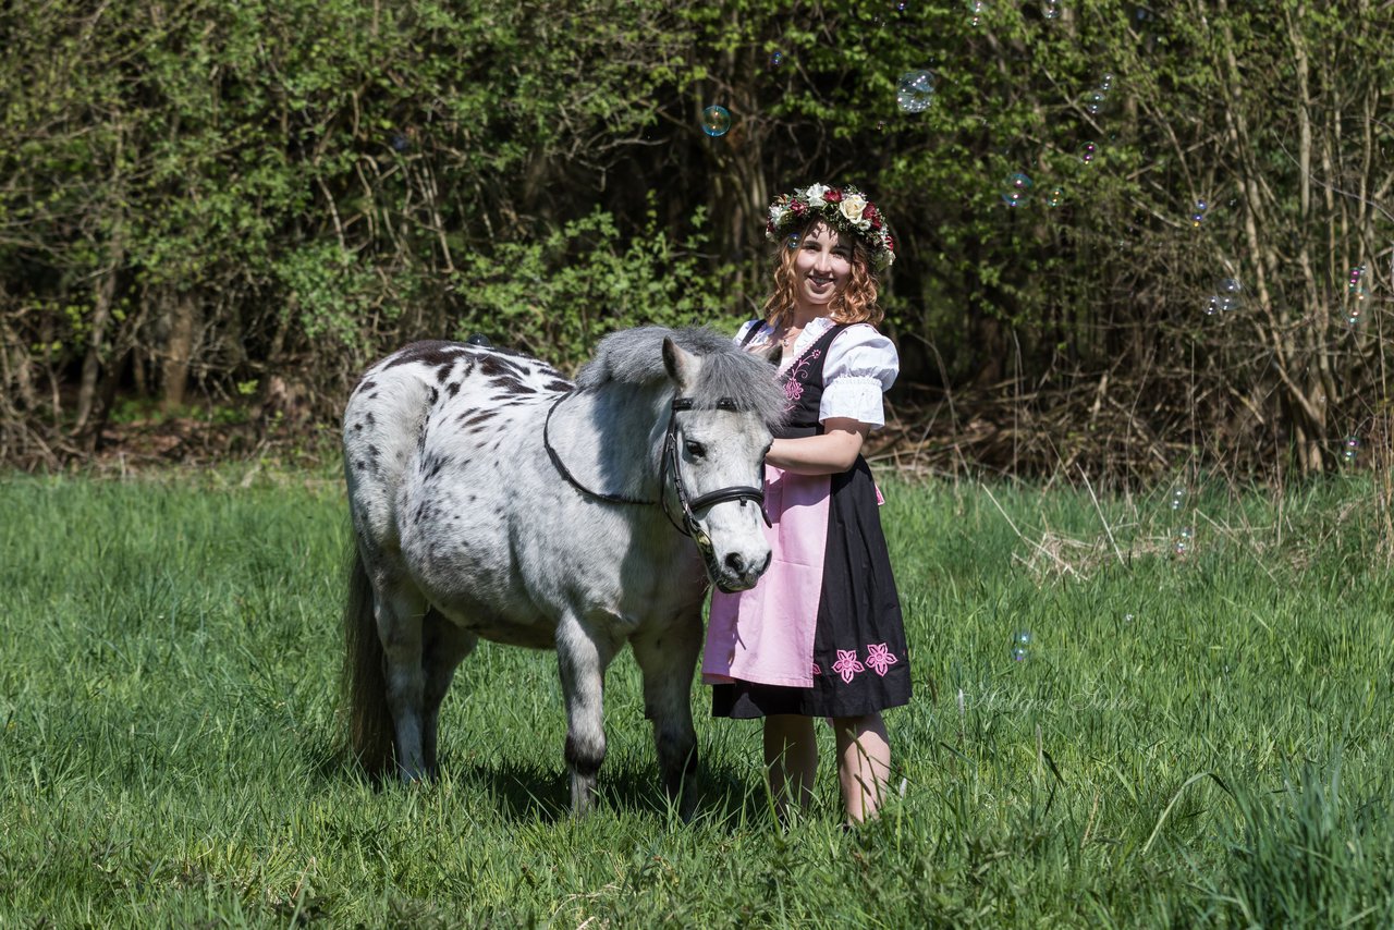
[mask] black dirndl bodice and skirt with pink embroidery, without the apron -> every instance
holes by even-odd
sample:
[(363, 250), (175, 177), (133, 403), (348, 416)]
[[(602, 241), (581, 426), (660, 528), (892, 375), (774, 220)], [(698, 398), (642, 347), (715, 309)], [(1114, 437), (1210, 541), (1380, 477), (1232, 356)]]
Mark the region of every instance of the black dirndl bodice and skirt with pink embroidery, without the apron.
[[(750, 326), (746, 342), (758, 325)], [(832, 326), (785, 372), (786, 425), (776, 436), (822, 434), (822, 367), (832, 340), (846, 325)], [(910, 700), (910, 661), (901, 600), (881, 530), (877, 488), (866, 459), (828, 475), (827, 548), (813, 643), (811, 687), (782, 687), (736, 680), (712, 687), (715, 717), (860, 717)]]

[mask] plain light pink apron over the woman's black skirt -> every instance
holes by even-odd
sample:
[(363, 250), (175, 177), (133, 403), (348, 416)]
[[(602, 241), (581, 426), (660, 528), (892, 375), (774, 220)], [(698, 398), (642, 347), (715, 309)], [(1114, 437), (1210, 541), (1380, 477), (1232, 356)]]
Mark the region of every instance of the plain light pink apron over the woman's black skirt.
[(749, 591), (711, 594), (703, 683), (732, 679), (810, 687), (813, 634), (822, 593), (831, 478), (765, 466), (769, 569)]

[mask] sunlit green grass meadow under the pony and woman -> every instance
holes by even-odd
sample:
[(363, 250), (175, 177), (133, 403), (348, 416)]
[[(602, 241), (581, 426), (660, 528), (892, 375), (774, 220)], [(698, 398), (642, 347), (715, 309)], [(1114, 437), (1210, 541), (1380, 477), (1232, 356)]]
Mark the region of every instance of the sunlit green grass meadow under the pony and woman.
[(627, 654), (595, 816), (566, 813), (553, 657), (488, 644), (441, 782), (375, 791), (337, 752), (339, 484), (238, 478), (0, 481), (0, 926), (1394, 923), (1361, 477), (1175, 510), (891, 482), (917, 693), (888, 714), (903, 795), (852, 834), (827, 764), (779, 830), (758, 726), (700, 686), (676, 818)]

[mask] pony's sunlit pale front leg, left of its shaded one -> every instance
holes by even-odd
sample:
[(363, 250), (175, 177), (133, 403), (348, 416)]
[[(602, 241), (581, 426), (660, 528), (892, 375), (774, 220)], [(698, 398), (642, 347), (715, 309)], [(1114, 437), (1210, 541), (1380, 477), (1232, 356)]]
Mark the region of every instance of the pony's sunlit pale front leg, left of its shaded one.
[(572, 772), (572, 813), (595, 803), (595, 774), (605, 761), (605, 669), (615, 646), (574, 616), (556, 627), (556, 664), (566, 699), (566, 765)]

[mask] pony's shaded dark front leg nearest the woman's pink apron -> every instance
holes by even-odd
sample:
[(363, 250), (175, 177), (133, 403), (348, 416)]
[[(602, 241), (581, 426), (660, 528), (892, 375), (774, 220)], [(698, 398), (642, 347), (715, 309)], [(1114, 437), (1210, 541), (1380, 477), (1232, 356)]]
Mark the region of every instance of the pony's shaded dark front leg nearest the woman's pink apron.
[(697, 805), (697, 733), (691, 685), (701, 653), (701, 618), (680, 619), (662, 630), (641, 630), (631, 640), (644, 673), (644, 715), (654, 721), (658, 774), (668, 796), (690, 818)]

